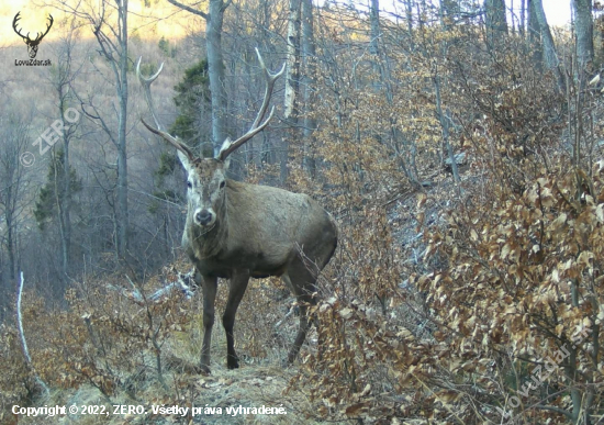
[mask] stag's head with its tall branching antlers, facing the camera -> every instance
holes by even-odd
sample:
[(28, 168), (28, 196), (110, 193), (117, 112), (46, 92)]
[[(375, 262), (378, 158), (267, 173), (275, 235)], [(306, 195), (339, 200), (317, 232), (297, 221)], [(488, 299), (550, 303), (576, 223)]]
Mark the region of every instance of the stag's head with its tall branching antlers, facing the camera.
[(268, 110), (270, 97), (275, 87), (275, 81), (283, 74), (286, 66), (276, 74), (268, 71), (265, 61), (256, 49), (258, 55), (258, 60), (262, 69), (262, 74), (267, 81), (267, 87), (265, 91), (265, 98), (262, 105), (256, 115), (254, 123), (251, 124), (249, 131), (232, 142), (230, 138), (224, 141), (219, 154), (215, 158), (199, 158), (191, 149), (184, 145), (178, 137), (174, 137), (170, 134), (161, 131), (161, 126), (155, 110), (153, 108), (153, 99), (150, 96), (150, 85), (159, 76), (164, 68), (164, 64), (159, 67), (158, 71), (145, 78), (141, 75), (141, 58), (136, 63), (136, 75), (138, 80), (145, 90), (145, 99), (152, 111), (153, 119), (155, 121), (156, 128), (149, 126), (144, 120), (143, 124), (153, 133), (161, 136), (166, 142), (176, 147), (178, 150), (178, 158), (187, 171), (187, 187), (188, 187), (188, 222), (197, 226), (201, 226), (208, 232), (213, 228), (216, 224), (216, 221), (222, 220), (221, 211), (223, 211), (222, 205), (224, 204), (224, 193), (226, 186), (226, 170), (228, 169), (228, 155), (235, 152), (244, 143), (249, 141), (256, 134), (261, 132), (269, 123), (275, 112), (275, 107), (271, 109), (268, 118), (262, 122), (266, 112)]

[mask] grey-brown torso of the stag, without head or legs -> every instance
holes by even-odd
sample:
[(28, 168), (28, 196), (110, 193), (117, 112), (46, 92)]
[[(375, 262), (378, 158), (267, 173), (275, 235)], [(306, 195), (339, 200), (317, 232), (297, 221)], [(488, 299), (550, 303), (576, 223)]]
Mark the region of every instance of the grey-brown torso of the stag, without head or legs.
[(306, 194), (226, 180), (223, 209), (212, 231), (201, 234), (188, 219), (182, 235), (187, 253), (209, 276), (228, 278), (235, 269), (279, 276), (299, 250), (326, 261), (327, 242), (336, 238), (333, 217)]

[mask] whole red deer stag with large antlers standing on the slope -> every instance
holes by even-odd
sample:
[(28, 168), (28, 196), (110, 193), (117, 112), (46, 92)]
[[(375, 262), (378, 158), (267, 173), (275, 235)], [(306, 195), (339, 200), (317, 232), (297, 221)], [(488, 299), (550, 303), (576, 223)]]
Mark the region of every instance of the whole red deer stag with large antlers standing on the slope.
[(256, 53), (267, 83), (262, 105), (249, 131), (234, 142), (227, 138), (215, 158), (197, 157), (177, 137), (161, 131), (153, 108), (150, 85), (161, 72), (164, 64), (148, 78), (141, 75), (141, 59), (136, 65), (156, 128), (144, 121), (143, 124), (177, 148), (188, 176), (188, 212), (182, 246), (194, 264), (195, 280), (203, 291), (204, 335), (200, 366), (204, 372), (210, 372), (217, 278), (230, 279), (228, 299), (222, 316), (228, 369), (239, 367), (233, 326), (250, 277), (280, 276), (298, 299), (300, 328), (288, 355), (288, 362), (291, 364), (306, 337), (307, 306), (316, 303), (317, 275), (327, 265), (337, 245), (334, 219), (309, 195), (226, 177), (228, 155), (262, 131), (275, 112), (273, 107), (262, 122), (275, 81), (284, 66), (279, 72), (270, 74), (258, 49)]

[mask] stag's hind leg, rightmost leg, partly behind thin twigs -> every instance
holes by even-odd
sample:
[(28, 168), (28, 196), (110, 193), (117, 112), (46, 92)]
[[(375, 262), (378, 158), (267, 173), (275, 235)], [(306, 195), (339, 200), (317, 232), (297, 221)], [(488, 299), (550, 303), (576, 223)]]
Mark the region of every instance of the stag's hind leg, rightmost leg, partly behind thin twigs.
[[(293, 364), (293, 360), (298, 357), (304, 339), (306, 339), (306, 333), (309, 332), (309, 305), (315, 305), (316, 299), (313, 293), (316, 291), (312, 273), (305, 268), (302, 262), (293, 265), (289, 268), (288, 272), (282, 276), (283, 281), (292, 289), (300, 307), (300, 328), (298, 335), (293, 342), (293, 346), (288, 354), (288, 364)], [(313, 322), (315, 322), (313, 320)]]

